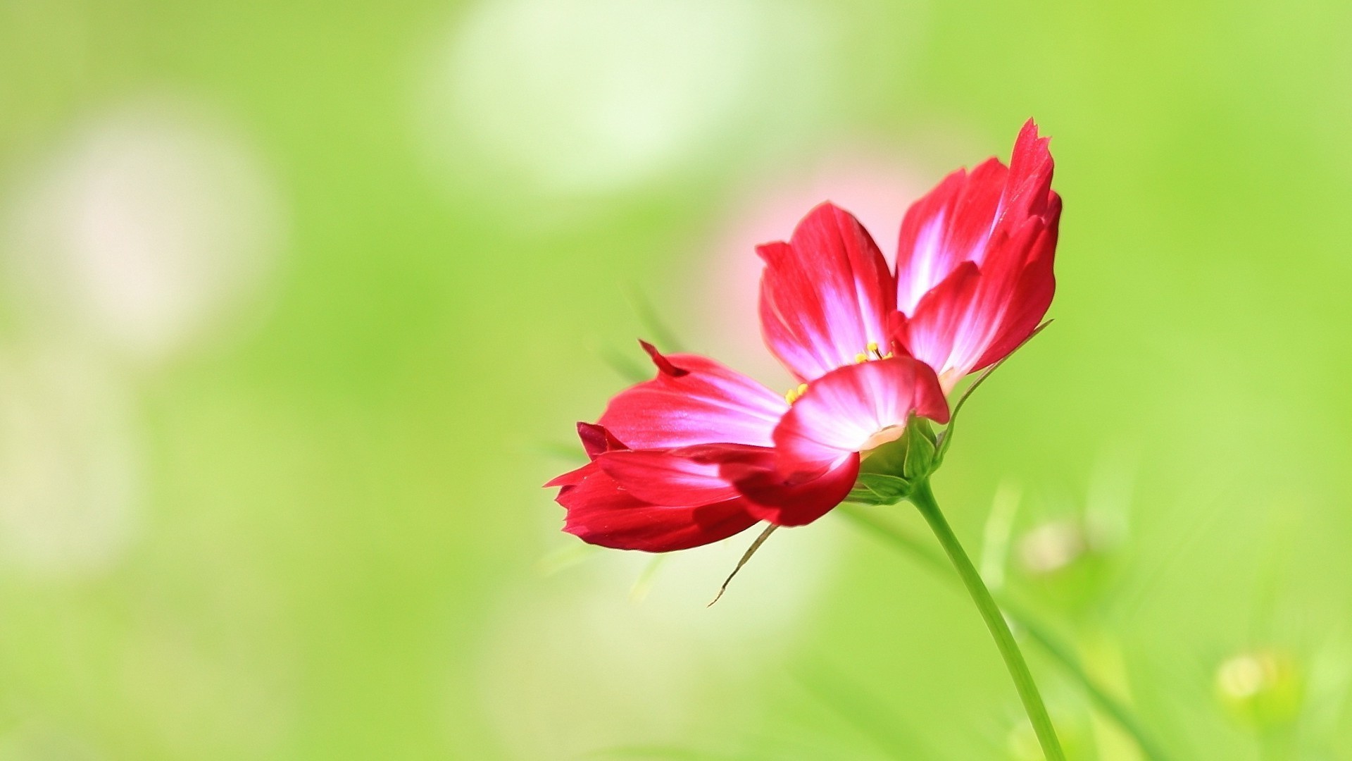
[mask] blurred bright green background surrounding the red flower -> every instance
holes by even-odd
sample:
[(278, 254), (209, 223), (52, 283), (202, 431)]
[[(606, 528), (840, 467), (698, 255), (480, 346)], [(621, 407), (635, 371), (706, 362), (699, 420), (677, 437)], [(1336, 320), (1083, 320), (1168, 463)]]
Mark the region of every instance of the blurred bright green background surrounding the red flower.
[[(750, 536), (589, 551), (539, 489), (644, 303), (786, 386), (752, 246), (830, 198), (891, 256), (1028, 116), (1056, 324), (940, 500), (1174, 758), (1352, 758), (1348, 39), (1333, 0), (0, 0), (0, 758), (1036, 758), (971, 604), (844, 516), (706, 609)], [(1029, 653), (1076, 758), (1137, 757)]]

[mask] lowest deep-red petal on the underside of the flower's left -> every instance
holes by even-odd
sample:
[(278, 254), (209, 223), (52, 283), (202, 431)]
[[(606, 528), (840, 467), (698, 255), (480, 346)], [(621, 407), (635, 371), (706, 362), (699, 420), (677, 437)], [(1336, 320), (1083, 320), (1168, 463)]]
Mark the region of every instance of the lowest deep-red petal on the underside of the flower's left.
[(741, 534), (758, 520), (740, 498), (653, 505), (621, 489), (600, 469), (581, 483), (560, 490), (557, 501), (568, 510), (564, 531), (589, 544), (615, 550), (685, 550)]

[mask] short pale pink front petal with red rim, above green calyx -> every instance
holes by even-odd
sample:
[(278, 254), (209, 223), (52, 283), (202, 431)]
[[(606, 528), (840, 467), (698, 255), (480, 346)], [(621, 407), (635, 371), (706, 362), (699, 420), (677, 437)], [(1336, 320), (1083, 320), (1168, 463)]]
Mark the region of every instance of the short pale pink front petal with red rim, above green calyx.
[(836, 467), (868, 448), (875, 435), (906, 425), (913, 413), (948, 422), (944, 390), (923, 362), (896, 356), (827, 372), (775, 428), (780, 470)]

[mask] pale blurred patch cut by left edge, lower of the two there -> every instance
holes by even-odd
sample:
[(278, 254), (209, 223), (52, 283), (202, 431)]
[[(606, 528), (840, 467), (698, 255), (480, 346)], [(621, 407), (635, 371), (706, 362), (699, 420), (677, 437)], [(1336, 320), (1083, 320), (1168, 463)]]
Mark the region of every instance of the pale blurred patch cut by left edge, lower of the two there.
[(107, 571), (138, 532), (141, 475), (128, 402), (99, 364), (51, 347), (0, 355), (0, 565)]

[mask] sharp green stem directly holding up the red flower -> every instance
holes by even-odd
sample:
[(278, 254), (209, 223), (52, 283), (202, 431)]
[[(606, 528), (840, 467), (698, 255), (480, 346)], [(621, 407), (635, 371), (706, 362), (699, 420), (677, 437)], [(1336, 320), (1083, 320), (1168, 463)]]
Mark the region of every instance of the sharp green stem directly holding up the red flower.
[(1005, 666), (1009, 668), (1010, 676), (1014, 678), (1019, 700), (1023, 701), (1023, 711), (1028, 714), (1028, 720), (1033, 723), (1033, 731), (1037, 733), (1037, 741), (1042, 746), (1042, 756), (1046, 757), (1046, 761), (1065, 761), (1061, 743), (1056, 739), (1056, 729), (1052, 726), (1052, 718), (1048, 716), (1042, 696), (1037, 692), (1037, 684), (1033, 681), (1033, 674), (1028, 670), (1023, 653), (1019, 651), (1018, 643), (1014, 642), (1009, 623), (1005, 622), (1005, 615), (1000, 613), (999, 605), (991, 597), (991, 590), (982, 581), (982, 574), (976, 573), (976, 566), (972, 565), (972, 561), (963, 550), (963, 544), (957, 540), (957, 535), (953, 534), (953, 528), (948, 525), (942, 510), (938, 509), (938, 502), (934, 501), (934, 493), (930, 492), (929, 481), (915, 483), (910, 500), (919, 508), (921, 515), (925, 516), (925, 520), (934, 531), (934, 536), (938, 538), (938, 543), (948, 552), (948, 559), (957, 569), (957, 575), (961, 577), (967, 592), (972, 596), (972, 601), (976, 603), (976, 609), (982, 613), (982, 619), (986, 620), (986, 628), (995, 638), (995, 646), (999, 649), (1000, 657), (1005, 658)]

